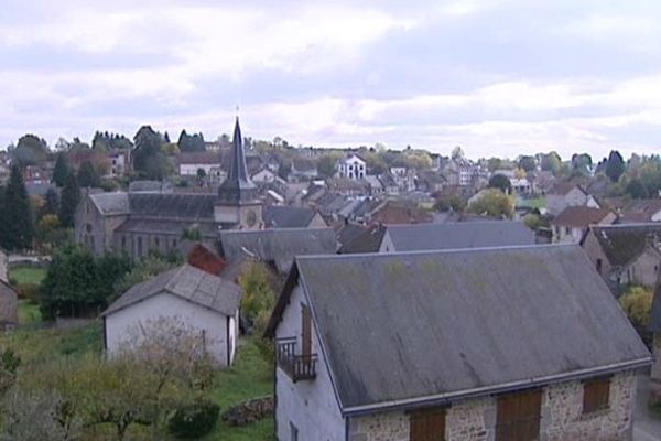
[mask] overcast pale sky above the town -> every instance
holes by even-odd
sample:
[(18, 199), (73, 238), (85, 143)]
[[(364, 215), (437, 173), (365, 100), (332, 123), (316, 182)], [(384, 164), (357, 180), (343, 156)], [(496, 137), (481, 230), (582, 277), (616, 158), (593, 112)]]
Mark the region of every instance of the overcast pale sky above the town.
[(0, 146), (210, 140), (238, 105), (293, 144), (652, 153), (660, 21), (657, 0), (1, 0)]

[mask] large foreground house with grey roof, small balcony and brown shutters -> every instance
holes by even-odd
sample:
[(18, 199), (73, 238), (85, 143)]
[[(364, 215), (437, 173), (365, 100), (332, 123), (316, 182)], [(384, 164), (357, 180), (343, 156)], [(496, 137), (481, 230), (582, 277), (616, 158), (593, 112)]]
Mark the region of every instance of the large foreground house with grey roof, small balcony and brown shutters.
[(651, 365), (577, 246), (297, 257), (266, 335), (279, 441), (631, 440)]

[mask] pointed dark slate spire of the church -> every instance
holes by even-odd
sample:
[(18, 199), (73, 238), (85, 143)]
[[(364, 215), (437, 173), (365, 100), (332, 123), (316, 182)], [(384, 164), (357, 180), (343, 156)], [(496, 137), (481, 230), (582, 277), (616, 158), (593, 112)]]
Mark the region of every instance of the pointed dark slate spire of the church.
[(218, 189), (218, 197), (225, 204), (250, 204), (257, 201), (257, 186), (248, 175), (246, 165), (246, 152), (243, 151), (243, 138), (239, 117), (235, 122), (234, 139), (231, 144), (231, 160), (227, 179)]

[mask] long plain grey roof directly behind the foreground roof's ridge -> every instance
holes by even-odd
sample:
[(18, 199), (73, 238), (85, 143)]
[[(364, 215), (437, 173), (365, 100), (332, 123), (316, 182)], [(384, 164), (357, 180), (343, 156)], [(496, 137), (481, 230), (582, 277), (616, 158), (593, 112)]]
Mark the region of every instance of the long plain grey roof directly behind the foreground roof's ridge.
[(398, 251), (534, 244), (534, 233), (516, 220), (389, 225), (388, 235)]

